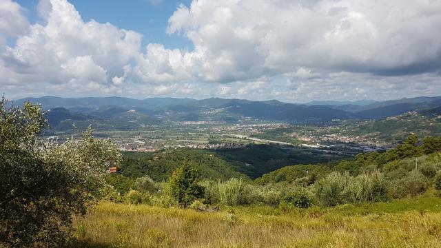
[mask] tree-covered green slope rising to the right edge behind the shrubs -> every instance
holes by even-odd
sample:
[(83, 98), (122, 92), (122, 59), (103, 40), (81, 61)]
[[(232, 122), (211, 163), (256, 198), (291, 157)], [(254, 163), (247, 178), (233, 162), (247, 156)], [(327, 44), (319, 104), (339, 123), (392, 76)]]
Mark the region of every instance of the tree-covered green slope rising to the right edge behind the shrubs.
[(416, 169), (422, 176), (435, 176), (441, 165), (441, 138), (426, 137), (418, 142), (415, 135), (407, 141), (386, 152), (358, 154), (355, 158), (334, 161), (334, 163), (316, 165), (292, 165), (274, 170), (256, 178), (258, 184), (283, 183), (310, 185), (331, 172), (349, 172), (358, 176), (367, 172), (380, 171), (391, 180), (400, 180), (411, 176)]

